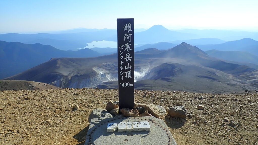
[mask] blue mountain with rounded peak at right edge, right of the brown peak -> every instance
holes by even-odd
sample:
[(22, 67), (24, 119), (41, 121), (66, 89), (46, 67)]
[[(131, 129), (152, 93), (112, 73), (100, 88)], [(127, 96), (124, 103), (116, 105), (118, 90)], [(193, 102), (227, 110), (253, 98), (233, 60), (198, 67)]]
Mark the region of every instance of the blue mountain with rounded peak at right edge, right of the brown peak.
[(220, 51), (246, 51), (258, 55), (258, 41), (250, 38), (244, 38), (236, 41), (229, 41), (222, 44), (196, 45), (203, 51), (220, 50)]

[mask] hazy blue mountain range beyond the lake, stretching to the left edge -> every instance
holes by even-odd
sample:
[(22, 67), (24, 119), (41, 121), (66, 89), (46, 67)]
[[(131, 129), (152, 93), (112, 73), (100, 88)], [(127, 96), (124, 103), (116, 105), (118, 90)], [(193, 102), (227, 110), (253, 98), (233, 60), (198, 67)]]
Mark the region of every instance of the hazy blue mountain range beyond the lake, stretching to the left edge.
[(51, 45), (60, 50), (69, 50), (76, 48), (83, 48), (87, 43), (100, 40), (113, 40), (112, 35), (116, 35), (116, 30), (103, 30), (93, 32), (80, 32), (80, 33), (64, 33), (64, 34), (17, 34), (8, 33), (0, 34), (0, 40), (6, 42), (21, 42), (26, 44), (41, 43), (44, 45)]

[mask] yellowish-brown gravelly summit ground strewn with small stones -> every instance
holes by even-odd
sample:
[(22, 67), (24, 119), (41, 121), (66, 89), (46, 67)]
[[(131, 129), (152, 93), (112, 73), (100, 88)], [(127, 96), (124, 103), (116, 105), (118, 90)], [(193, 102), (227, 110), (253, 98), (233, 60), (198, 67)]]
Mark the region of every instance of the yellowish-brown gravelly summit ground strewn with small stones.
[[(258, 91), (134, 92), (137, 103), (187, 109), (186, 119), (160, 117), (179, 145), (258, 144)], [(117, 89), (0, 91), (0, 144), (83, 145), (89, 115), (95, 108), (106, 108), (110, 100), (118, 101)]]

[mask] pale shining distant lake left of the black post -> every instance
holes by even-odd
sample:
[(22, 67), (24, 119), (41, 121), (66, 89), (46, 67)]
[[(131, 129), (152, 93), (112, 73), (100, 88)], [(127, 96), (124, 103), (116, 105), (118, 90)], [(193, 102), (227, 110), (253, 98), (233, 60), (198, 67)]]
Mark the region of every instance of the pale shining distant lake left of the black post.
[[(92, 41), (91, 43), (87, 43), (88, 46), (84, 48), (117, 48), (117, 42), (116, 41), (106, 41), (106, 40), (101, 40), (101, 41)], [(77, 49), (84, 49), (84, 48), (77, 48)]]

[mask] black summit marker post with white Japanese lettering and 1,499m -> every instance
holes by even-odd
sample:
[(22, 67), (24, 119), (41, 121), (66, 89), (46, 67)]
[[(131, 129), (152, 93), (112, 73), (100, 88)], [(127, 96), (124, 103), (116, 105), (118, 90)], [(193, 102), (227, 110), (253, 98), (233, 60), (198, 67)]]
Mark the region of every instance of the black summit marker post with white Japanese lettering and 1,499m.
[(134, 108), (133, 22), (134, 19), (117, 19), (119, 111), (122, 108)]

